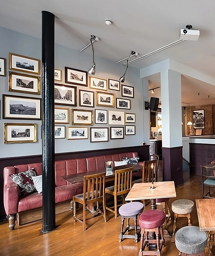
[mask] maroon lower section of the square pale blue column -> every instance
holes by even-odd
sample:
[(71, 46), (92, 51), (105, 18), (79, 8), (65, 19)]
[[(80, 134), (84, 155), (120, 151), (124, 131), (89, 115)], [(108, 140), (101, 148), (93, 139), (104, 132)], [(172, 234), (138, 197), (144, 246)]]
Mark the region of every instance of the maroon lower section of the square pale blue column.
[(182, 147), (162, 148), (163, 181), (183, 184)]

